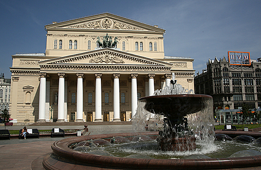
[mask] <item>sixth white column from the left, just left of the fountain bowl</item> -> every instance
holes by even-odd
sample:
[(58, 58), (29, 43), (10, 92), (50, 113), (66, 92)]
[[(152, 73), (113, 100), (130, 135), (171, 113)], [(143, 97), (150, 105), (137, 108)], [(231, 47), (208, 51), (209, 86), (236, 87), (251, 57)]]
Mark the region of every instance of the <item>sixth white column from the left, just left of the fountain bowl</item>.
[(130, 74), (131, 76), (131, 118), (133, 119), (138, 107), (137, 92), (137, 76), (138, 74)]

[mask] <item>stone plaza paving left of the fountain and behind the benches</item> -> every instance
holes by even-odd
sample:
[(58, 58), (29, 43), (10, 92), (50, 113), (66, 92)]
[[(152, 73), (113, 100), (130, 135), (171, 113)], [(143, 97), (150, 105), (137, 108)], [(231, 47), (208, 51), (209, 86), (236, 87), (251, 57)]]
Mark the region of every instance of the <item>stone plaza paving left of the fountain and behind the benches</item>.
[[(19, 130), (23, 126), (8, 126), (8, 130)], [(27, 126), (38, 130), (52, 129), (54, 126)], [(62, 129), (83, 129), (83, 125), (60, 126)], [(87, 135), (131, 132), (131, 124), (122, 125), (88, 125)], [(4, 129), (4, 126), (0, 126)], [(66, 136), (65, 136), (66, 137)], [(28, 139), (0, 140), (0, 170), (44, 170), (42, 161), (51, 153), (51, 144), (64, 137), (40, 137)]]

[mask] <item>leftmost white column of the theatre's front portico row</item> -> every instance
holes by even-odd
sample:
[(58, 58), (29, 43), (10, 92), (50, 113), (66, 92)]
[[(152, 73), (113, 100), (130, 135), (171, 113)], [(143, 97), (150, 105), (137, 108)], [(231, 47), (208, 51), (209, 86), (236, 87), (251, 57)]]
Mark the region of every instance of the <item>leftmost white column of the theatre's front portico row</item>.
[(37, 122), (46, 122), (45, 102), (46, 102), (46, 72), (42, 72), (40, 73), (39, 117)]

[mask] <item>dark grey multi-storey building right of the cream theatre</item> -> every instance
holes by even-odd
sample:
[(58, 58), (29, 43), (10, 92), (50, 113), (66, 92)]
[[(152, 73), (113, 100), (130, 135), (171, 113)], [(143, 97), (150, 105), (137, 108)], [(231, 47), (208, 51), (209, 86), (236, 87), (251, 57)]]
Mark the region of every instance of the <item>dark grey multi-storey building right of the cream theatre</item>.
[(260, 108), (261, 60), (247, 62), (231, 64), (225, 57), (209, 60), (207, 69), (194, 79), (195, 93), (211, 95), (215, 109), (240, 109), (243, 104)]

